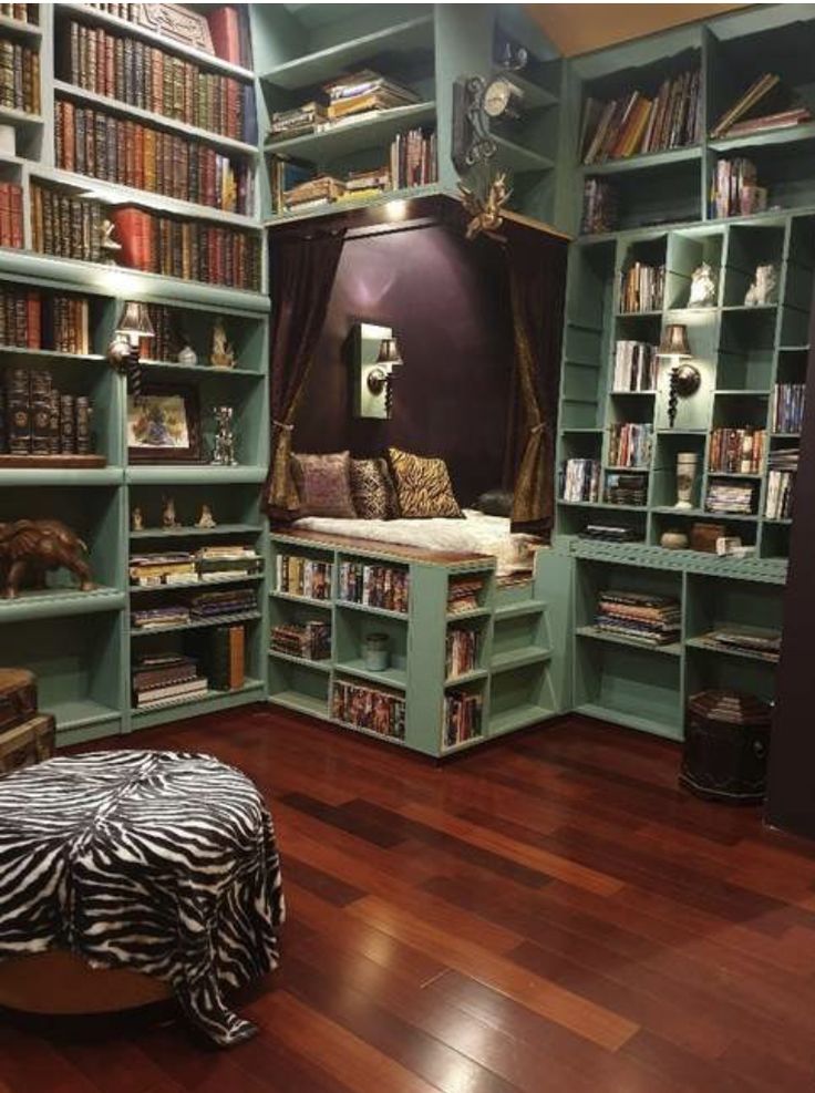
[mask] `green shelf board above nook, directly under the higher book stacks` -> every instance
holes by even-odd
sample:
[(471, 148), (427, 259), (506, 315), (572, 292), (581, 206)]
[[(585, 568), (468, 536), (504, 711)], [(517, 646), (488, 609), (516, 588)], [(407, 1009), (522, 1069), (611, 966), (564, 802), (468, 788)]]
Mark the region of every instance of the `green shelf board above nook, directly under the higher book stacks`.
[[(382, 110), (376, 117), (343, 122), (319, 133), (272, 141), (264, 146), (264, 151), (270, 155), (297, 156), (313, 163), (327, 163), (390, 142), (404, 128), (435, 122), (435, 116), (434, 101), (411, 103), (407, 106)], [(339, 204), (342, 206), (344, 203)]]

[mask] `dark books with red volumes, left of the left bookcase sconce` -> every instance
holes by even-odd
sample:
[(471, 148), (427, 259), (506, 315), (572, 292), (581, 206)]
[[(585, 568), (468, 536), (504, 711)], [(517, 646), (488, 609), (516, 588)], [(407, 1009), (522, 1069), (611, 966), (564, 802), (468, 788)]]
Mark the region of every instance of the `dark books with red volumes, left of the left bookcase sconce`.
[(87, 298), (0, 288), (0, 346), (90, 353)]

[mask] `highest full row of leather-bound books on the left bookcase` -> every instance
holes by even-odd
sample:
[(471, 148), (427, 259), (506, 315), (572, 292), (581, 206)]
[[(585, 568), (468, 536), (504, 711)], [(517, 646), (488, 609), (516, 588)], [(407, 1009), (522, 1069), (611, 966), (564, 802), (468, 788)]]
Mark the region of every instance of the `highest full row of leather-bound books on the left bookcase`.
[(84, 91), (234, 141), (257, 143), (250, 82), (206, 72), (137, 39), (71, 21), (62, 74)]

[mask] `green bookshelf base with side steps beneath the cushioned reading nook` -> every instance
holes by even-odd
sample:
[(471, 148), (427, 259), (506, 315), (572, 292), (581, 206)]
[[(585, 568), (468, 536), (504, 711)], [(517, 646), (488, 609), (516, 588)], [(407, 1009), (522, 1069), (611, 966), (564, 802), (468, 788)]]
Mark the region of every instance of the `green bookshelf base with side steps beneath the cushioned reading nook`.
[[(553, 636), (565, 632), (569, 616), (568, 558), (539, 550), (528, 581), (502, 587), (494, 559), (482, 556), (434, 560), (427, 551), (292, 533), (272, 534), (271, 554), (271, 627), (331, 627), (322, 660), (269, 651), (272, 704), (434, 757), (564, 711), (567, 650)], [(303, 595), (300, 582), (312, 580), (302, 577), (305, 564), (319, 569), (320, 599)], [(349, 570), (360, 580), (351, 592)], [(394, 571), (409, 588), (406, 610), (388, 599)], [(464, 609), (448, 612), (451, 586), (471, 581)], [(471, 659), (454, 674), (447, 653), (456, 630), (473, 632)], [(363, 659), (374, 635), (389, 649), (382, 671)]]

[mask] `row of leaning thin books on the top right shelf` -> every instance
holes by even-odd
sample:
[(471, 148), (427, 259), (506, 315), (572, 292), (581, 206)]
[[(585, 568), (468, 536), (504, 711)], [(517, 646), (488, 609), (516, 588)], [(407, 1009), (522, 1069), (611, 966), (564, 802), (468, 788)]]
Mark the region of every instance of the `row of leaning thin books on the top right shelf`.
[(641, 91), (584, 107), (580, 154), (585, 164), (663, 152), (701, 140), (700, 71), (666, 79), (657, 95)]

